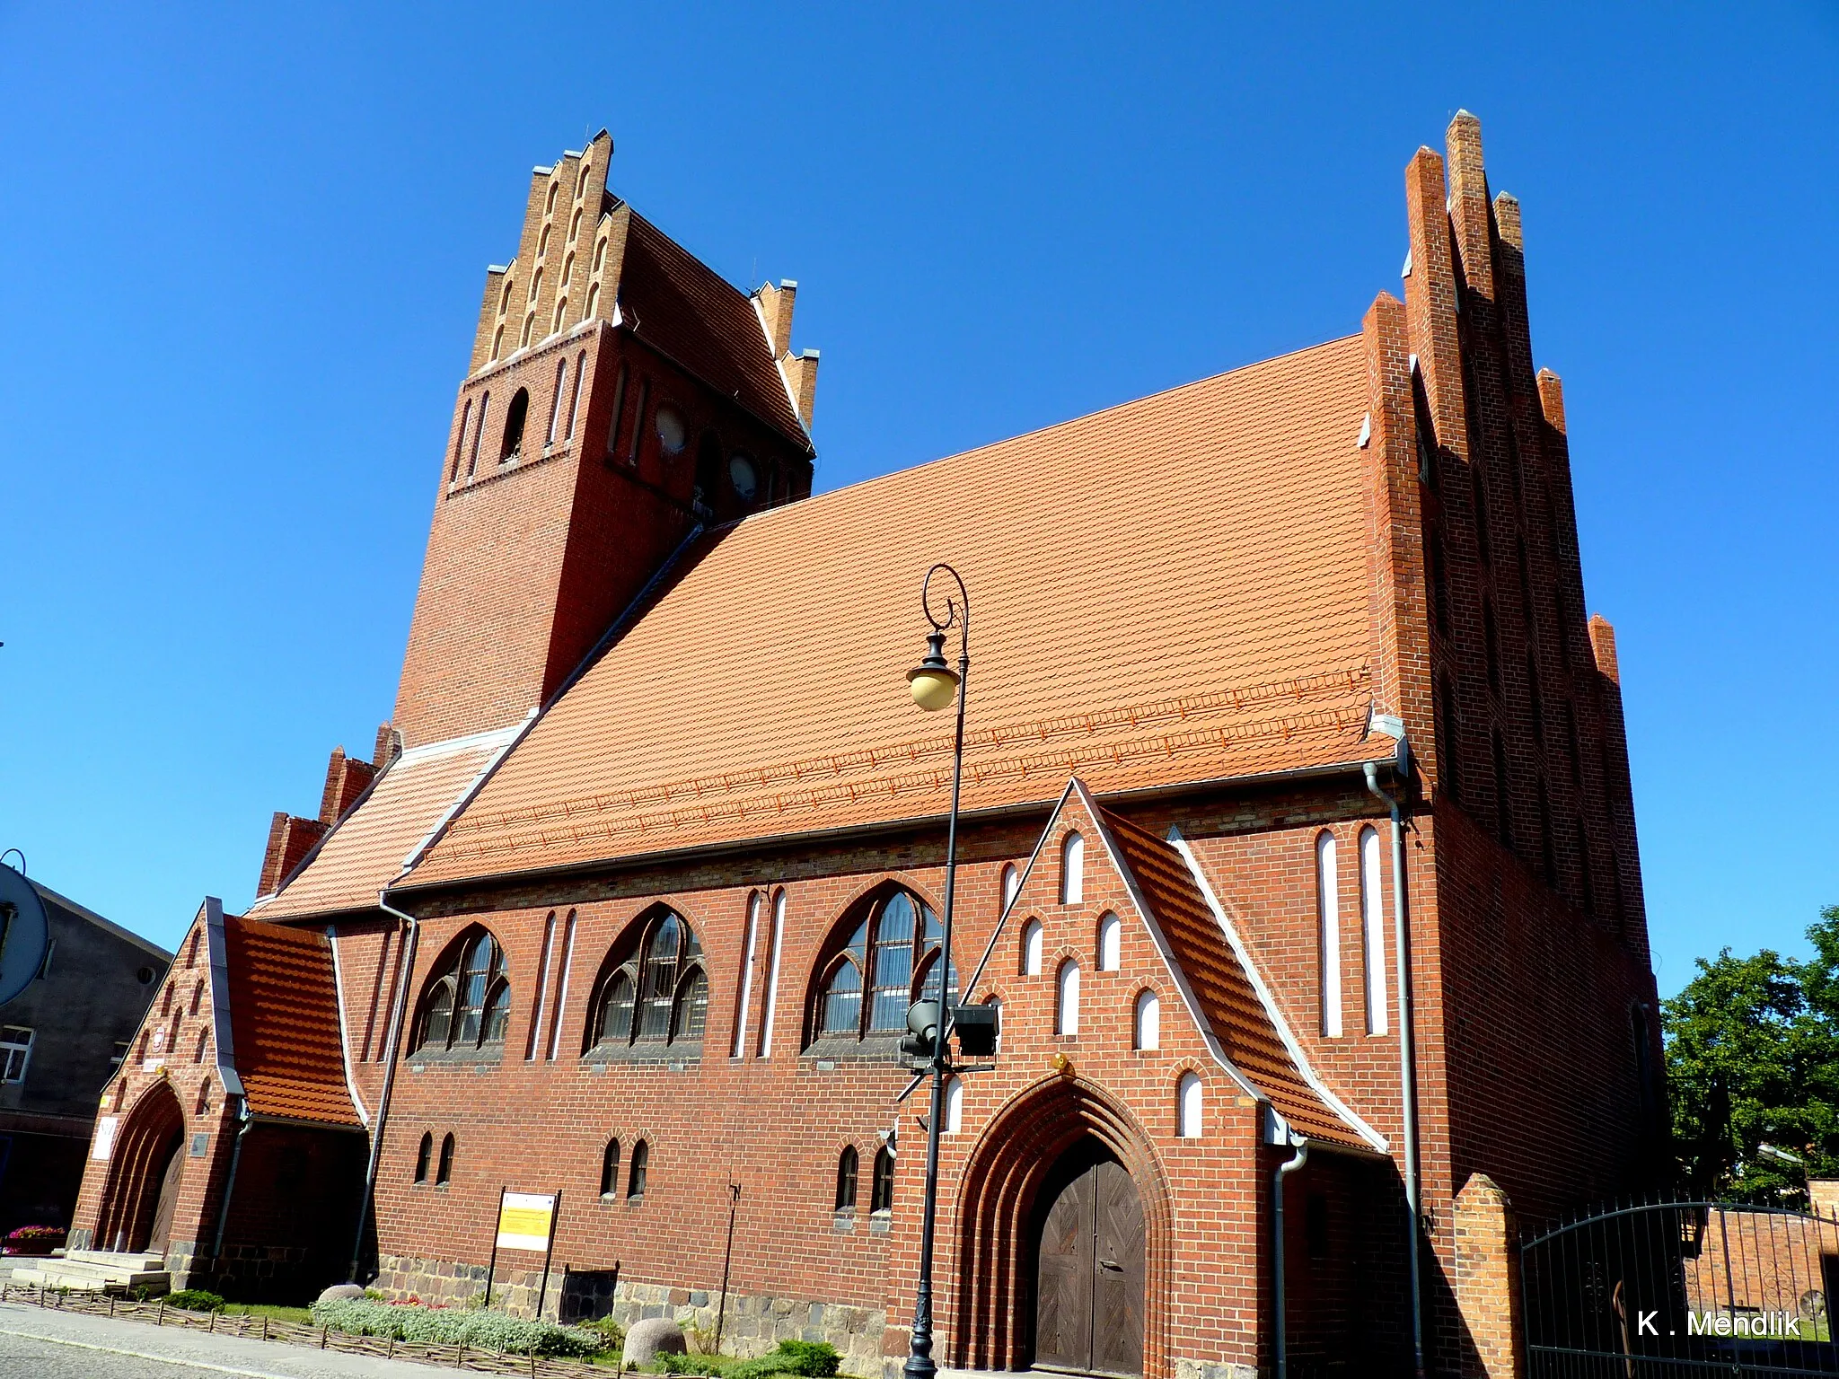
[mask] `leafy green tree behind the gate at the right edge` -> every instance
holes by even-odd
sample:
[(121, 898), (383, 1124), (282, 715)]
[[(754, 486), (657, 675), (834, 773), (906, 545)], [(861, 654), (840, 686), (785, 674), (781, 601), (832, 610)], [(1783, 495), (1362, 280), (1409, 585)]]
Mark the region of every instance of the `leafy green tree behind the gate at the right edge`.
[(1802, 1169), (1839, 1175), (1839, 905), (1808, 929), (1813, 958), (1764, 949), (1707, 962), (1662, 1002), (1673, 1149), (1685, 1186), (1747, 1202), (1806, 1199)]

